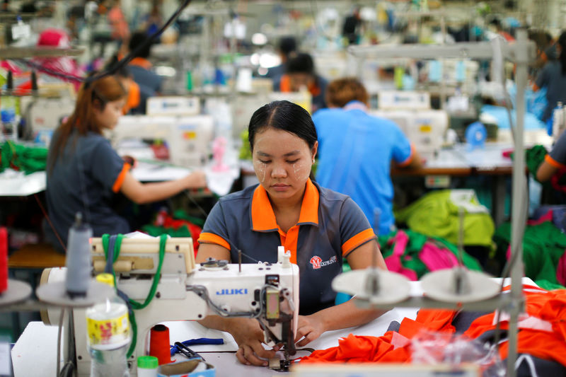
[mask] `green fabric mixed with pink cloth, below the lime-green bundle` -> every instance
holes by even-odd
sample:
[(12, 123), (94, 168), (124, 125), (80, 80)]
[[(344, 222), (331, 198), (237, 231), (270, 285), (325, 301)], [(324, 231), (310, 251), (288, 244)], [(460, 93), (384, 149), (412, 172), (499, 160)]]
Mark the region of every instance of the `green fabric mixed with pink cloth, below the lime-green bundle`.
[[(409, 237), (407, 246), (405, 247), (405, 253), (403, 253), (403, 257), (401, 257), (401, 265), (403, 267), (412, 269), (417, 274), (417, 277), (422, 277), (422, 275), (429, 272), (427, 266), (424, 265), (423, 262), (419, 259), (420, 250), (422, 250), (422, 246), (427, 241), (437, 243), (439, 248), (446, 248), (450, 250), (456, 257), (458, 257), (458, 248), (456, 245), (449, 243), (447, 240), (438, 237), (428, 237), (422, 233), (417, 233), (415, 231), (410, 231), (408, 229), (403, 229), (403, 231)], [(381, 254), (383, 257), (388, 257), (393, 254), (393, 248), (395, 247), (395, 243), (393, 243), (393, 239), (396, 236), (396, 232), (389, 233), (387, 236), (379, 236), (379, 248), (381, 249)], [(468, 269), (473, 269), (475, 271), (481, 271), (482, 267), (478, 260), (474, 257), (469, 255), (468, 253), (464, 252), (462, 255), (463, 264), (468, 267)]]

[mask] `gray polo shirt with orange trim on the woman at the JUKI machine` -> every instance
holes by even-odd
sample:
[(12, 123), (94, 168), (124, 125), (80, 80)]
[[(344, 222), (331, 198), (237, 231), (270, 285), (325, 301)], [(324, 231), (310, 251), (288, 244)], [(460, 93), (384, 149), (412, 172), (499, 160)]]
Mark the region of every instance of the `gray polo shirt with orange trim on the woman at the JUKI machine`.
[(215, 243), (245, 263), (277, 262), (277, 246), (291, 251), (299, 265), (299, 313), (308, 315), (334, 305), (332, 280), (342, 261), (376, 236), (350, 197), (307, 181), (299, 221), (284, 233), (277, 225), (267, 192), (261, 185), (222, 197), (210, 212), (200, 243)]

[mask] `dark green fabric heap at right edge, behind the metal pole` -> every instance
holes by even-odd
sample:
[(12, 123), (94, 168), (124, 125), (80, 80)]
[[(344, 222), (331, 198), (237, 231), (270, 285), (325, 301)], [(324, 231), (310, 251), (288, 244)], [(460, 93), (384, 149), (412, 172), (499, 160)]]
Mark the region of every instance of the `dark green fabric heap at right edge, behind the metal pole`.
[[(493, 239), (497, 243), (499, 255), (507, 253), (511, 242), (511, 223), (497, 228)], [(556, 279), (556, 266), (566, 248), (566, 234), (552, 222), (526, 226), (523, 236), (523, 262), (525, 276), (534, 282), (545, 280), (548, 284), (559, 284)], [(543, 282), (543, 284), (547, 284)]]

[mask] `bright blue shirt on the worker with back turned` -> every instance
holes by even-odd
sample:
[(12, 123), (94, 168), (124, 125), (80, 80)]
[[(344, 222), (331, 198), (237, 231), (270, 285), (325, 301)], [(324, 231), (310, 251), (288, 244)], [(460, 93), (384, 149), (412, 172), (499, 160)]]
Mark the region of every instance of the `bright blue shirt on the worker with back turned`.
[[(408, 161), (410, 141), (397, 124), (364, 110), (323, 109), (313, 121), (318, 132), (316, 181), (352, 197), (371, 226), (388, 234), (395, 224), (391, 160)], [(374, 224), (376, 209), (381, 211), (379, 226)]]

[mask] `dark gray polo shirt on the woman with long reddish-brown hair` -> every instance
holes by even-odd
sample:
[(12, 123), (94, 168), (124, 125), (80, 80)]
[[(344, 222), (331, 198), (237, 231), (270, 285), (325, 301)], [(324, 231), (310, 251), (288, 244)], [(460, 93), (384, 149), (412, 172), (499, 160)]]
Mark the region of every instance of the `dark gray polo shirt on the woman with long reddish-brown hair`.
[[(53, 140), (57, 137), (56, 132)], [(129, 225), (112, 208), (112, 199), (120, 191), (129, 164), (102, 135), (88, 132), (80, 136), (73, 132), (50, 170), (53, 146), (54, 142), (47, 155), (45, 199), (51, 222), (65, 245), (77, 211), (91, 225), (95, 237), (128, 233)], [(44, 225), (44, 229), (47, 240), (62, 251), (50, 226)]]

